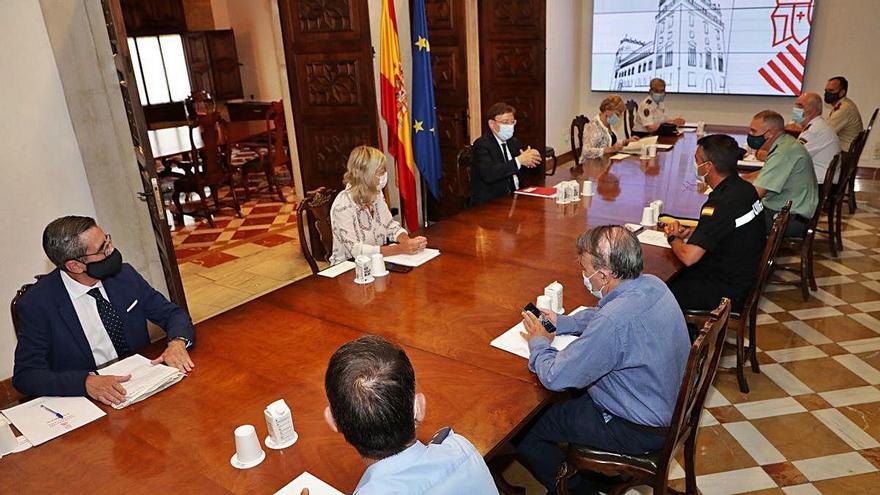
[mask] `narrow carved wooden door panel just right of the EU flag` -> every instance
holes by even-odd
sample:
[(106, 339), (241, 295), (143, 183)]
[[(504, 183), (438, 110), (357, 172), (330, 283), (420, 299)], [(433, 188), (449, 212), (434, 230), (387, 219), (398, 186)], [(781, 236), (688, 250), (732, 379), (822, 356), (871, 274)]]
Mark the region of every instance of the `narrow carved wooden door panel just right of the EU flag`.
[(425, 191), (428, 219), (431, 221), (464, 209), (471, 187), (464, 174), (458, 175), (456, 167), (458, 151), (471, 141), (468, 136), (465, 3), (465, 0), (425, 1), (437, 127), (440, 132), (440, 159), (443, 162), (440, 200)]

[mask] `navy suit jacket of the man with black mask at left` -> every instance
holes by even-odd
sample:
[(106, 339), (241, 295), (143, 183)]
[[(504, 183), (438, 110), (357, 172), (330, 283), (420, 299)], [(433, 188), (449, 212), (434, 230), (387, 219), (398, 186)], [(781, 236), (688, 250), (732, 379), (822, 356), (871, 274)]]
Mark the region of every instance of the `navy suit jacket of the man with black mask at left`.
[[(118, 274), (103, 280), (103, 285), (110, 303), (122, 316), (132, 350), (150, 343), (147, 320), (165, 329), (169, 340), (185, 337), (195, 341), (186, 311), (150, 287), (128, 263)], [(95, 359), (59, 270), (40, 279), (15, 308), (19, 316), (12, 376), (15, 388), (35, 396), (86, 395), (86, 376), (95, 369)]]

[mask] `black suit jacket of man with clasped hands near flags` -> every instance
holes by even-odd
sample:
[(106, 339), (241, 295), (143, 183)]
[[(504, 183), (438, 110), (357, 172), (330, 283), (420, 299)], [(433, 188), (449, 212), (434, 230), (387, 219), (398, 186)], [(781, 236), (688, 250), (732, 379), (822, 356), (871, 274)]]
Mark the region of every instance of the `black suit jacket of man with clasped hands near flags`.
[(517, 174), (516, 157), (522, 152), (522, 143), (516, 137), (507, 140), (513, 157), (505, 160), (501, 146), (492, 131), (474, 141), (471, 148), (471, 197), (469, 206), (481, 205), (513, 191), (513, 176)]

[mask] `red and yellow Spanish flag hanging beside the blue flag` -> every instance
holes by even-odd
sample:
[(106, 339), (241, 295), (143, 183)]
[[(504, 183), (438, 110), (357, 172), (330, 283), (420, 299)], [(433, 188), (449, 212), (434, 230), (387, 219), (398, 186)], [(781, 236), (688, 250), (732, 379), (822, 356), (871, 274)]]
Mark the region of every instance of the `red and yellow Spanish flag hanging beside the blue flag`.
[(379, 38), (379, 85), (382, 92), (382, 119), (388, 125), (388, 153), (397, 164), (397, 187), (400, 189), (400, 206), (406, 227), (418, 230), (415, 161), (393, 1), (382, 0)]

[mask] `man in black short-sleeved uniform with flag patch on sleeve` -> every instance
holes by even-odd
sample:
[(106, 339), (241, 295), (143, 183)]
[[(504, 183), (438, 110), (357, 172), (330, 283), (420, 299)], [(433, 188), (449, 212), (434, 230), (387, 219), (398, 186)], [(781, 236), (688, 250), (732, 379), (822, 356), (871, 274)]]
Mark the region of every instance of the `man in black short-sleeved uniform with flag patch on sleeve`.
[(694, 229), (666, 225), (672, 252), (686, 265), (669, 289), (683, 309), (714, 309), (729, 297), (742, 309), (764, 249), (764, 207), (755, 188), (739, 177), (739, 144), (714, 134), (697, 141), (697, 175), (712, 187)]

